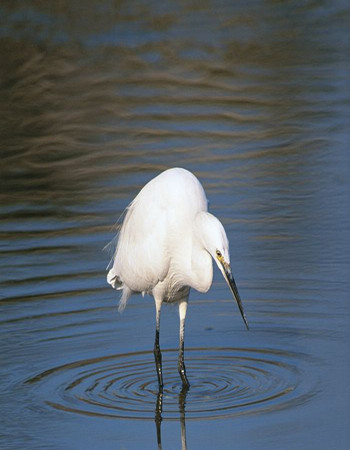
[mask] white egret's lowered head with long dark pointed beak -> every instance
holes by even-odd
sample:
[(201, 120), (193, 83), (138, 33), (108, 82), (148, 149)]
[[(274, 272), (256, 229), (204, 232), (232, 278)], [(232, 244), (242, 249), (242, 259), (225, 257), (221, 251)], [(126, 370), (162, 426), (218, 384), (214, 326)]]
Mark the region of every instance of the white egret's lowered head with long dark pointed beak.
[(201, 219), (202, 241), (204, 248), (216, 262), (220, 272), (226, 280), (239, 308), (242, 319), (247, 327), (248, 322), (243, 310), (243, 304), (239, 295), (230, 265), (229, 243), (226, 232), (221, 222), (212, 214), (205, 213)]

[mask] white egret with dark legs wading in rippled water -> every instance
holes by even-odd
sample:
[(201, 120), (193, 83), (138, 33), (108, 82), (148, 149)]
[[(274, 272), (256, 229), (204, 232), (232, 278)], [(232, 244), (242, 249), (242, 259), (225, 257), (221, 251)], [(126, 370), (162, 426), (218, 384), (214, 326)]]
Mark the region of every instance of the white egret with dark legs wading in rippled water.
[(246, 328), (248, 322), (232, 275), (229, 242), (219, 219), (208, 211), (208, 200), (196, 176), (170, 168), (151, 179), (127, 206), (107, 267), (107, 282), (122, 291), (119, 311), (131, 294), (149, 294), (155, 301), (154, 358), (159, 390), (163, 390), (159, 345), (163, 303), (178, 305), (180, 332), (178, 372), (189, 389), (184, 362), (185, 319), (190, 289), (209, 290), (213, 261), (235, 298)]

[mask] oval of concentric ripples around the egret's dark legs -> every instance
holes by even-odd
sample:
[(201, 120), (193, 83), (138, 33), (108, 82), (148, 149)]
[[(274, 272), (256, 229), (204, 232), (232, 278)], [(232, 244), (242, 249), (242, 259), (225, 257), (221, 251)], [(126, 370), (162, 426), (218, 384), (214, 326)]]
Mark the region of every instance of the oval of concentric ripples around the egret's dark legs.
[[(26, 381), (63, 411), (128, 419), (215, 419), (288, 408), (316, 392), (305, 355), (280, 350), (190, 348), (191, 388), (181, 392), (177, 350), (163, 351), (164, 391), (152, 352), (86, 359), (54, 367)], [(310, 369), (310, 368), (309, 368)]]

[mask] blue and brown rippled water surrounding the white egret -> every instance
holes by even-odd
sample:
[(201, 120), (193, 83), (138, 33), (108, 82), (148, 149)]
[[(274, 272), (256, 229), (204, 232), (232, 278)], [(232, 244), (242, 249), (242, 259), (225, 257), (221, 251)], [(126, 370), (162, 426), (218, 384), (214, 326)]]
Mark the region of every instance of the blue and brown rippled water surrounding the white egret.
[[(347, 2), (11, 2), (0, 7), (5, 449), (346, 449)], [(178, 317), (117, 313), (113, 224), (186, 167), (225, 225), (219, 274)]]

